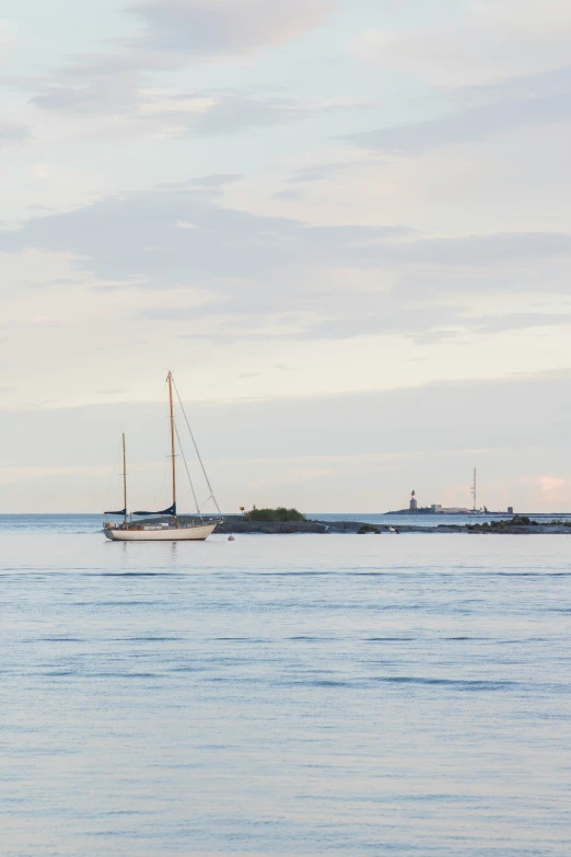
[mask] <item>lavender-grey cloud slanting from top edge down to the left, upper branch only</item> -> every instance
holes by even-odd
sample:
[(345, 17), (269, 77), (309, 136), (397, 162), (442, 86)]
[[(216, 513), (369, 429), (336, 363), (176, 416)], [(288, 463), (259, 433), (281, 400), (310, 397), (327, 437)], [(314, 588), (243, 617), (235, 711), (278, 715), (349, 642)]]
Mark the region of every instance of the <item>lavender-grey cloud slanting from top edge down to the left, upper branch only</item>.
[[(109, 39), (106, 51), (70, 57), (47, 78), (45, 93), (34, 103), (77, 108), (81, 101), (100, 105), (107, 97), (119, 105), (129, 101), (148, 73), (186, 68), (205, 59), (226, 61), (287, 44), (325, 23), (334, 9), (329, 0), (138, 2), (127, 9), (140, 25), (136, 32)], [(5, 80), (33, 91), (42, 77)]]

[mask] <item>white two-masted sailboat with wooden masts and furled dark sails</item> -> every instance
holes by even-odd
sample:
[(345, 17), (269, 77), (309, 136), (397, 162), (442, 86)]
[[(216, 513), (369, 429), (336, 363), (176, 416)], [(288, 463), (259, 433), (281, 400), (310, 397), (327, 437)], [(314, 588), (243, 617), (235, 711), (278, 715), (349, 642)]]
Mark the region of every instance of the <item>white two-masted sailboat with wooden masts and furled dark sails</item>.
[[(123, 436), (123, 488), (124, 488), (124, 508), (120, 512), (105, 512), (105, 514), (115, 514), (123, 517), (124, 521), (120, 524), (104, 524), (103, 531), (107, 538), (113, 542), (186, 542), (186, 541), (199, 541), (203, 542), (205, 538), (215, 530), (217, 524), (220, 521), (205, 522), (201, 519), (200, 523), (185, 523), (177, 518), (176, 514), (176, 452), (175, 452), (175, 419), (173, 408), (173, 374), (168, 372), (168, 402), (171, 408), (171, 461), (173, 473), (173, 502), (168, 509), (163, 509), (161, 512), (133, 512), (135, 516), (167, 516), (171, 520), (166, 523), (160, 522), (147, 522), (137, 523), (129, 520), (127, 514), (127, 456), (125, 451), (125, 435)], [(194, 438), (193, 438), (194, 440)], [(195, 444), (196, 445), (196, 444)], [(198, 450), (197, 450), (198, 453)], [(202, 461), (199, 456), (200, 464)], [(203, 470), (203, 465), (202, 465)], [(203, 471), (207, 479), (208, 476)], [(213, 498), (212, 489), (210, 488), (210, 496)], [(210, 498), (209, 498), (210, 499)], [(215, 500), (214, 500), (215, 502)], [(199, 511), (199, 510), (198, 510)], [(200, 512), (199, 512), (200, 513)]]

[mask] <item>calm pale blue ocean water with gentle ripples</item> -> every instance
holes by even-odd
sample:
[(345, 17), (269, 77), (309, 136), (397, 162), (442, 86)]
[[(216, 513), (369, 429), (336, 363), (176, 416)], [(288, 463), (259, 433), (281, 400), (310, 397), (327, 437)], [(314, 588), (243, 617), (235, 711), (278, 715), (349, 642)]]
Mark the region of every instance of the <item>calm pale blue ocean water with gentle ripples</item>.
[(567, 538), (100, 526), (0, 517), (2, 857), (568, 857)]

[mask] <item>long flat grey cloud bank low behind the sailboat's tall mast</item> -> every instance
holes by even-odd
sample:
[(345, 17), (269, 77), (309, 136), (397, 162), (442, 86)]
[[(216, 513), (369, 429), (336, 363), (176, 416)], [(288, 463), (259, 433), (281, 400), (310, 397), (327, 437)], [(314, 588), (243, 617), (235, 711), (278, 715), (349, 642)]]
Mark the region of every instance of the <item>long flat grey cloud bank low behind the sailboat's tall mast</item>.
[[(570, 383), (571, 372), (561, 371), (341, 395), (186, 402), (185, 407), (207, 459), (541, 451), (568, 445)], [(529, 407), (531, 402), (540, 406)], [(3, 410), (0, 467), (108, 465), (121, 424), (138, 454), (154, 460), (152, 450), (163, 448), (163, 414), (162, 402), (48, 408), (38, 435), (37, 410)]]

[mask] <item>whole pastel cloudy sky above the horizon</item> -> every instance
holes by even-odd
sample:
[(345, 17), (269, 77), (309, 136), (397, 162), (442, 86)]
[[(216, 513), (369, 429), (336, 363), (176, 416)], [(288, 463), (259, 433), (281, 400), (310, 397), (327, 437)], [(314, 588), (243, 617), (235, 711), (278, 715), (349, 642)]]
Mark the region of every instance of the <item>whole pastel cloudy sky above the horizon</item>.
[(0, 15), (0, 512), (571, 511), (571, 4)]

